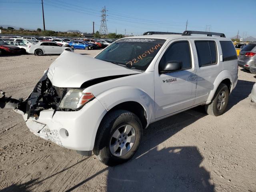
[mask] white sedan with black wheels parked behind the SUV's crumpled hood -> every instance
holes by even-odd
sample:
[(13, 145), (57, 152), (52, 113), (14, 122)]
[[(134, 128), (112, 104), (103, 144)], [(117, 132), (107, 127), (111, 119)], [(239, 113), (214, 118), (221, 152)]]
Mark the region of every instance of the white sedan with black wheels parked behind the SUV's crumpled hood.
[(43, 54), (61, 54), (64, 50), (74, 52), (70, 47), (60, 46), (52, 41), (43, 41), (28, 46), (27, 53), (41, 56)]

